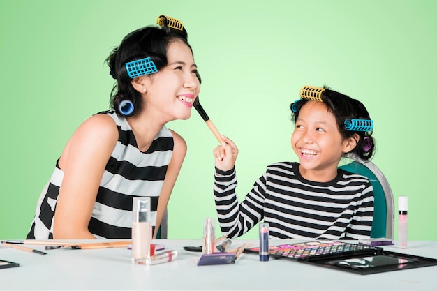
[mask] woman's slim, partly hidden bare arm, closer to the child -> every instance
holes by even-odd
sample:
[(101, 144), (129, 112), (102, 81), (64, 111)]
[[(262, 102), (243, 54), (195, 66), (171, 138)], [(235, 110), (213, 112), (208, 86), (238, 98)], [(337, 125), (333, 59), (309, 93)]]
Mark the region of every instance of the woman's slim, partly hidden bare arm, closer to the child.
[(158, 229), (161, 225), (164, 211), (167, 208), (168, 200), (170, 200), (170, 195), (172, 193), (173, 187), (175, 186), (177, 176), (179, 175), (179, 171), (181, 170), (182, 162), (184, 161), (186, 154), (185, 140), (174, 131), (170, 131), (172, 132), (175, 146), (173, 147), (172, 158), (170, 159), (170, 163), (167, 167), (167, 173), (165, 174), (163, 188), (161, 189), (161, 194), (159, 195), (158, 209), (156, 211), (156, 226), (153, 237), (154, 239), (156, 239), (156, 235), (158, 234)]

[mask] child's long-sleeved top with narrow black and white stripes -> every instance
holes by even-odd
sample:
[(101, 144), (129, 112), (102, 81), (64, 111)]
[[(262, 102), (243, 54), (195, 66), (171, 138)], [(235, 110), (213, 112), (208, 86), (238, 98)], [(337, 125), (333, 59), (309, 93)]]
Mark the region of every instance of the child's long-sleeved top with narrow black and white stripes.
[(339, 169), (327, 183), (308, 181), (299, 163), (267, 167), (244, 201), (238, 203), (234, 170), (214, 173), (214, 196), (221, 231), (239, 237), (264, 219), (270, 239), (369, 238), (373, 188), (369, 179)]

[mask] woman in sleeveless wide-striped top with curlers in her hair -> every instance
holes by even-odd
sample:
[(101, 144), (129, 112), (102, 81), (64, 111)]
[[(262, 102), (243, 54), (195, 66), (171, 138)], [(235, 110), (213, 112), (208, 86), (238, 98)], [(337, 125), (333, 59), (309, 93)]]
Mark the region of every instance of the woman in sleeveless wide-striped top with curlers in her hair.
[(175, 22), (161, 15), (161, 27), (128, 33), (110, 54), (112, 110), (89, 117), (66, 144), (27, 239), (130, 238), (135, 196), (151, 197), (151, 223), (160, 225), (186, 154), (165, 124), (188, 119), (200, 91)]

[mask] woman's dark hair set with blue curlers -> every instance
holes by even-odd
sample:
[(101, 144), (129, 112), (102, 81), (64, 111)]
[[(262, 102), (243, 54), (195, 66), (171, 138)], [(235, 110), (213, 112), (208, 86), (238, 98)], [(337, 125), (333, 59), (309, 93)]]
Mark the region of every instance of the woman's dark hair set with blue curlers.
[(168, 45), (176, 40), (182, 40), (193, 52), (191, 45), (188, 44), (188, 34), (185, 29), (179, 31), (168, 27), (149, 26), (132, 31), (123, 38), (119, 47), (115, 47), (106, 59), (110, 67), (110, 75), (117, 80), (111, 91), (111, 109), (117, 114), (124, 115), (119, 111), (119, 105), (122, 101), (129, 100), (134, 110), (128, 116), (141, 112), (142, 97), (131, 84), (132, 79), (128, 76), (126, 63), (150, 57), (156, 69), (161, 70), (167, 66)]

